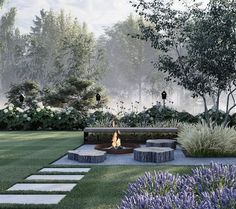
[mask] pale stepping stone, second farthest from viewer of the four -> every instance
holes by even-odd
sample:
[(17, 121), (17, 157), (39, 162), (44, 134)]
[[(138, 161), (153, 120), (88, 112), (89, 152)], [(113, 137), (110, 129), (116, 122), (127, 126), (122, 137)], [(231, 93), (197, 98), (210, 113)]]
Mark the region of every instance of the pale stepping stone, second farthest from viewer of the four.
[(78, 181), (82, 179), (84, 175), (31, 175), (27, 177), (27, 180), (56, 180), (56, 181)]

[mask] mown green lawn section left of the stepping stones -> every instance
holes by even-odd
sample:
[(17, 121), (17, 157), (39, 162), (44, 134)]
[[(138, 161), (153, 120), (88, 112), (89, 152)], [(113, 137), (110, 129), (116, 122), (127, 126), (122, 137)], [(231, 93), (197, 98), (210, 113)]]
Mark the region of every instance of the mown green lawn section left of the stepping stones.
[(0, 132), (0, 192), (82, 143), (81, 132)]

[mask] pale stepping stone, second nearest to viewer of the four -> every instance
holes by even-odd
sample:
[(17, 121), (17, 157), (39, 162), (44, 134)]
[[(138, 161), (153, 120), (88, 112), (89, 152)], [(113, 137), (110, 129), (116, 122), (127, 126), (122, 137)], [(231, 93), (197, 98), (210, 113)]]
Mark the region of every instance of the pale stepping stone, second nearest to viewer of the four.
[(76, 184), (32, 184), (20, 183), (15, 184), (7, 191), (43, 191), (43, 192), (68, 192), (71, 191)]

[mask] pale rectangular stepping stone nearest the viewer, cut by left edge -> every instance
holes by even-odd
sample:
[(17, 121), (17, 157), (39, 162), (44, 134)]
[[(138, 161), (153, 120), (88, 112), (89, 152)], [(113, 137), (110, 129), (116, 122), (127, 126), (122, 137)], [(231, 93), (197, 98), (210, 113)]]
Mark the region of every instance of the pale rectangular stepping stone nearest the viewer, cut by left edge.
[(65, 196), (54, 194), (1, 194), (0, 204), (58, 204)]

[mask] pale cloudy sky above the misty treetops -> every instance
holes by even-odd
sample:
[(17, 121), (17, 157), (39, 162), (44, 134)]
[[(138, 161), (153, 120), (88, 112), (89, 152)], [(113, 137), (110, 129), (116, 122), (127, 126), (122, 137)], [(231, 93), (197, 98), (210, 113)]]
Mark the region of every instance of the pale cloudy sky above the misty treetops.
[(64, 9), (81, 23), (86, 22), (97, 37), (103, 33), (104, 27), (112, 26), (134, 13), (129, 0), (6, 0), (1, 13), (11, 7), (17, 8), (16, 26), (21, 33), (30, 31), (32, 20), (41, 9)]

